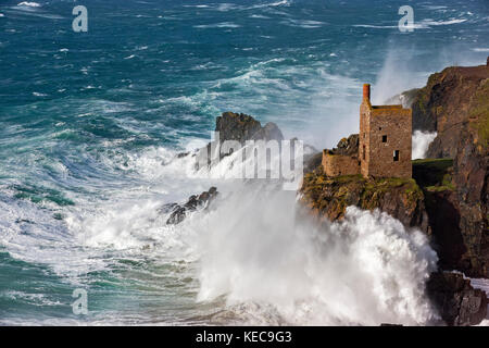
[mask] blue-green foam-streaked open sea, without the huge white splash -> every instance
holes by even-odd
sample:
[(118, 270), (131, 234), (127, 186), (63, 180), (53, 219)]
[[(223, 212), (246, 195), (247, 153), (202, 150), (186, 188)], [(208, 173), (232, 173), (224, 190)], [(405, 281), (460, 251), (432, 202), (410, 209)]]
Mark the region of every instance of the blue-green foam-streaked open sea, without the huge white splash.
[(87, 0), (87, 33), (73, 1), (20, 3), (0, 4), (2, 324), (212, 322), (191, 234), (155, 213), (209, 187), (164, 165), (177, 151), (223, 111), (329, 147), (358, 130), (363, 83), (383, 101), (489, 54), (485, 0)]

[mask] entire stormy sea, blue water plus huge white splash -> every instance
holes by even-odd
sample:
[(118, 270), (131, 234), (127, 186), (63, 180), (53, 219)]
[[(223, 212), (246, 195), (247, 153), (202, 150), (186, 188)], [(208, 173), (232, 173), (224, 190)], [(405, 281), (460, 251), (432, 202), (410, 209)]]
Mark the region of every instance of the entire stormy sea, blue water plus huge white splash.
[[(404, 2), (1, 1), (0, 325), (435, 320), (422, 232), (354, 207), (318, 231), (296, 219), (296, 191), (177, 157), (225, 111), (331, 148), (359, 132), (364, 83), (381, 103), (486, 61), (487, 1), (409, 1), (410, 33)], [(432, 138), (415, 134), (413, 158)], [(213, 209), (166, 224), (164, 204), (211, 186)]]

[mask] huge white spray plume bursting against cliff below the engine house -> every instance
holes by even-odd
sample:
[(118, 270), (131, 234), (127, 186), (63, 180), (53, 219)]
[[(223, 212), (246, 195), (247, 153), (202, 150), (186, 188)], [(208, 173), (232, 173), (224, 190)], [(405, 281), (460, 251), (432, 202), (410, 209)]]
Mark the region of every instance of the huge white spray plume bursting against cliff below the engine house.
[(319, 229), (296, 219), (294, 210), (293, 192), (248, 186), (203, 220), (186, 222), (201, 231), (198, 299), (225, 296), (229, 311), (251, 311), (251, 323), (263, 320), (266, 308), (289, 324), (424, 324), (435, 318), (424, 284), (437, 256), (424, 234), (353, 207), (344, 221)]

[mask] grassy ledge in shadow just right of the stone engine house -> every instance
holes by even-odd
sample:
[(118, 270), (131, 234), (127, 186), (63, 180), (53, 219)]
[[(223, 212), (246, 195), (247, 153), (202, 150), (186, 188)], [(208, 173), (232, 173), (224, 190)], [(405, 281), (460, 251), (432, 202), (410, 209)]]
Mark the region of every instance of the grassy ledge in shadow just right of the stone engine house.
[(414, 160), (413, 178), (424, 190), (453, 190), (452, 166), (452, 159)]

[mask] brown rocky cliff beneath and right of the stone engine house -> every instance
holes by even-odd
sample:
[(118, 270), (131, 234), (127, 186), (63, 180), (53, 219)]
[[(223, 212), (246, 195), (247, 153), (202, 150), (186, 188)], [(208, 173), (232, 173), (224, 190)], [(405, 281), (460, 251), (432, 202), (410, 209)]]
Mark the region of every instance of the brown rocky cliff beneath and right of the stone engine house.
[[(380, 209), (430, 235), (441, 270), (489, 278), (489, 60), (432, 74), (400, 100), (413, 109), (413, 130), (437, 132), (430, 159), (413, 161), (413, 179), (328, 177), (316, 156), (304, 166), (300, 201), (330, 221), (342, 219), (350, 204)], [(356, 150), (347, 144), (342, 139), (335, 151)], [(435, 273), (428, 290), (449, 325), (486, 316), (486, 295), (461, 275)]]

